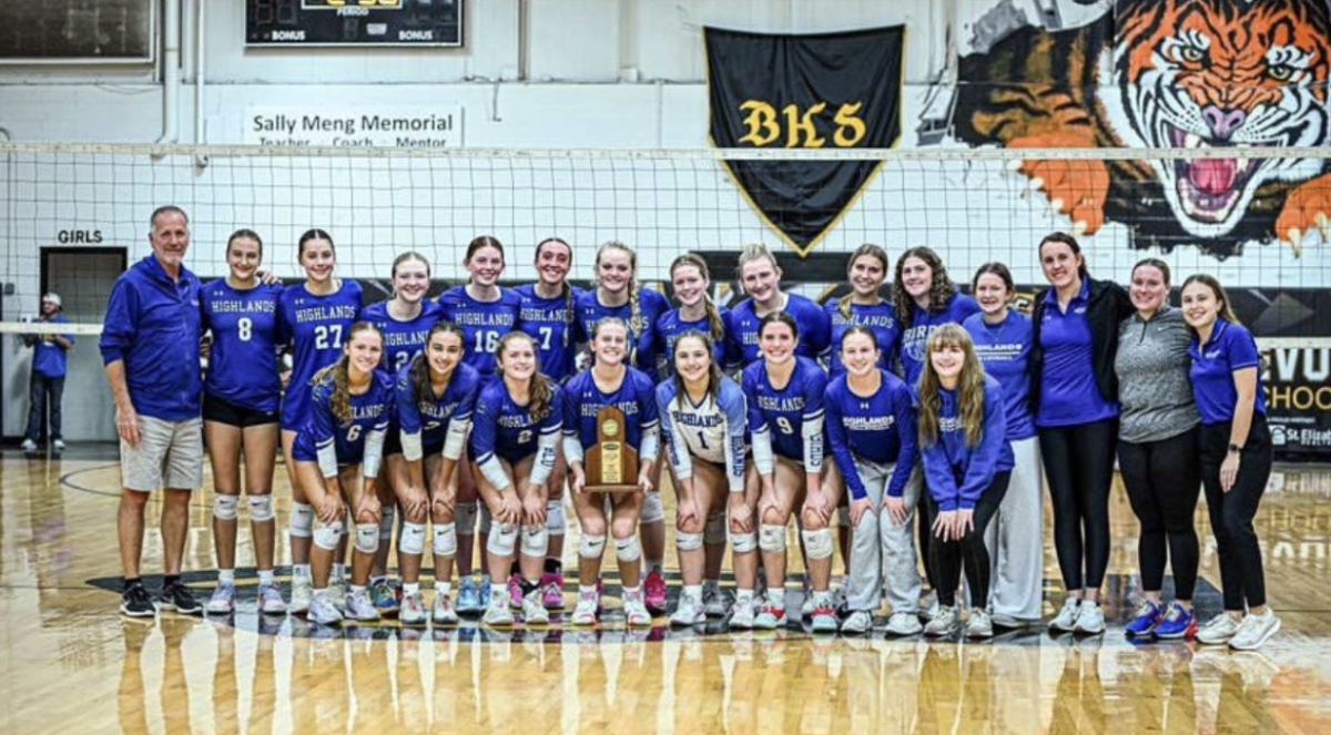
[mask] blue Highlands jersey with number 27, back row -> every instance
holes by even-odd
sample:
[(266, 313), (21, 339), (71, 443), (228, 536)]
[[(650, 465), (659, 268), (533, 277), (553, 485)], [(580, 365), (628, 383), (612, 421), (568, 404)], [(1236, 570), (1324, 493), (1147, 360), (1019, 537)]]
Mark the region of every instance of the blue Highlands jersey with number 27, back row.
[(282, 292), (278, 308), (284, 334), (294, 346), (291, 379), (282, 397), (282, 429), (299, 430), (310, 419), (310, 381), (342, 356), (342, 344), (361, 317), (361, 284), (343, 278), (327, 296), (291, 286)]

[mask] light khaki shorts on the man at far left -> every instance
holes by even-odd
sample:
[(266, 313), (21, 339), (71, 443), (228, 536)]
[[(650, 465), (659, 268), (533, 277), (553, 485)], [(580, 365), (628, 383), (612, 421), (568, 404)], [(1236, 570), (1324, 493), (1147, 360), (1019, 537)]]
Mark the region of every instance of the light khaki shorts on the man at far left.
[(122, 487), (140, 493), (201, 487), (204, 419), (162, 421), (140, 415), (138, 446), (120, 439), (120, 477)]

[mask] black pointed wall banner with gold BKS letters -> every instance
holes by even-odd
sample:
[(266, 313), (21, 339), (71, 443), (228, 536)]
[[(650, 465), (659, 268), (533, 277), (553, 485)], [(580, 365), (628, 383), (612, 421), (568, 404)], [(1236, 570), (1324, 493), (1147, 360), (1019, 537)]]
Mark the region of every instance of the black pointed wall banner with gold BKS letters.
[[(707, 28), (717, 148), (892, 148), (901, 136), (905, 28), (816, 36)], [(727, 161), (759, 216), (807, 256), (881, 161)]]

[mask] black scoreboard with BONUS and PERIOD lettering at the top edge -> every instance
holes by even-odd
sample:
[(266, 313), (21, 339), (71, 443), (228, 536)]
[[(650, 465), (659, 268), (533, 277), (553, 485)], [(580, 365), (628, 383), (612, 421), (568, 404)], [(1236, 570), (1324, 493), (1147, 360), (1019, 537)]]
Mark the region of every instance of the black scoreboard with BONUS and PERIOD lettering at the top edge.
[(258, 47), (461, 47), (465, 0), (246, 0)]

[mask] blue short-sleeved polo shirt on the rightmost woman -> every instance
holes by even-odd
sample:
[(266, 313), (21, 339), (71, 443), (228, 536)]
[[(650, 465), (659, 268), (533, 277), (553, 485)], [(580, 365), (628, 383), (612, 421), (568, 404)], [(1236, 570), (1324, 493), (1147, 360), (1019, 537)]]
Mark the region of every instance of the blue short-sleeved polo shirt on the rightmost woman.
[[(1189, 375), (1193, 378), (1193, 397), (1202, 414), (1202, 423), (1233, 421), (1234, 407), (1239, 401), (1239, 391), (1234, 387), (1234, 373), (1246, 368), (1259, 368), (1262, 364), (1252, 333), (1243, 329), (1242, 325), (1218, 318), (1206, 346), (1193, 340), (1187, 354), (1193, 358)], [(1260, 369), (1256, 377), (1254, 410), (1266, 415)]]

